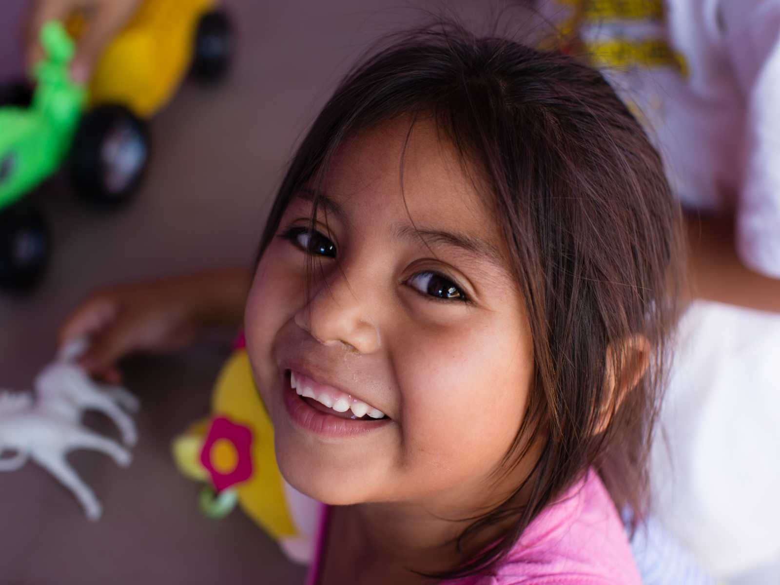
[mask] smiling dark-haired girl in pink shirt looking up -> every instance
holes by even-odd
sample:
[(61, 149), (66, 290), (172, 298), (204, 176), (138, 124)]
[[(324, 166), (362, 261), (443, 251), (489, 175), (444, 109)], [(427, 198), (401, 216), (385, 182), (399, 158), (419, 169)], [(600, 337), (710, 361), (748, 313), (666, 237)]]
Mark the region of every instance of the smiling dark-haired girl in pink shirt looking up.
[[(449, 25), (356, 66), (285, 176), (244, 321), (278, 466), (323, 503), (310, 582), (640, 583), (617, 510), (644, 512), (678, 223), (587, 66)], [(65, 336), (97, 333), (110, 376), (229, 321), (242, 278), (101, 293)]]

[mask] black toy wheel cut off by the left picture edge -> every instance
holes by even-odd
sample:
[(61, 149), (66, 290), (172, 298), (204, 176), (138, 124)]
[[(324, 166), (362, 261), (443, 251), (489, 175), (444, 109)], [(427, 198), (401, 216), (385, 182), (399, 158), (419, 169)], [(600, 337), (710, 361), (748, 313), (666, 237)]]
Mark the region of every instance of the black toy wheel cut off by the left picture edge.
[(41, 280), (51, 238), (41, 211), (14, 205), (0, 211), (0, 287), (26, 292)]

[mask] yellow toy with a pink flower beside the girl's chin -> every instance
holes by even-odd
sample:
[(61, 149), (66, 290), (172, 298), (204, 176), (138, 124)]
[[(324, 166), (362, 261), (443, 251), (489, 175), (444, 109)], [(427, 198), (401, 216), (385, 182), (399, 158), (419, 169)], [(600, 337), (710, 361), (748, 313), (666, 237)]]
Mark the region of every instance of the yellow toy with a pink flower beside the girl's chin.
[(222, 368), (211, 415), (177, 437), (172, 452), (184, 475), (204, 482), (200, 509), (207, 516), (220, 518), (239, 505), (290, 558), (310, 560), (320, 505), (279, 473), (274, 429), (245, 349)]

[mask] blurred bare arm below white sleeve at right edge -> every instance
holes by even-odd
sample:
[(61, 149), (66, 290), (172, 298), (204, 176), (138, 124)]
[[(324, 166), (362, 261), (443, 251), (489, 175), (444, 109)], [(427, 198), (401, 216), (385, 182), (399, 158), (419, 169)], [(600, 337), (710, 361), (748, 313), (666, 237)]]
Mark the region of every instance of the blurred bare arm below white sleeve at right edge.
[(780, 313), (780, 280), (753, 271), (740, 260), (732, 216), (690, 215), (686, 235), (690, 299)]

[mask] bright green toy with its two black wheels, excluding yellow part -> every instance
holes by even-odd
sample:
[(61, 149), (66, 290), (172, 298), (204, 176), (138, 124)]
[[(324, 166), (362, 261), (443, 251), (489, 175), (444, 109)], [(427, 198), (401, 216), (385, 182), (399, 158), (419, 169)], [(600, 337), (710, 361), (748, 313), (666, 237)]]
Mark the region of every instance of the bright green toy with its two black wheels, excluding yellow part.
[(87, 110), (86, 87), (70, 77), (76, 46), (62, 23), (44, 24), (40, 38), (45, 56), (34, 68), (34, 93), (0, 92), (0, 288), (6, 291), (32, 289), (51, 255), (44, 215), (27, 193), (67, 167), (77, 193), (97, 204), (122, 204), (140, 183), (149, 152), (144, 121), (133, 112), (120, 104)]

